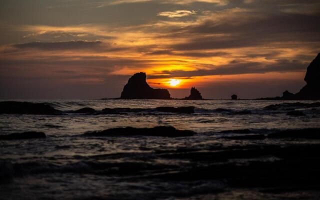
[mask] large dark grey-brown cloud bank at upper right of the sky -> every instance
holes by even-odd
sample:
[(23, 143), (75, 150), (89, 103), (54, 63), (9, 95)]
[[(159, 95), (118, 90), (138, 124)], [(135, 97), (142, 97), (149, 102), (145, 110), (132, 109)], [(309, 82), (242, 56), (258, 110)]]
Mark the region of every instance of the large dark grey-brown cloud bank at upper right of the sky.
[[(202, 17), (198, 23), (172, 29), (167, 37), (185, 38), (174, 50), (227, 49), (243, 47), (298, 47), (320, 42), (320, 15), (259, 13), (226, 9)], [(312, 44), (313, 43), (313, 44)]]

